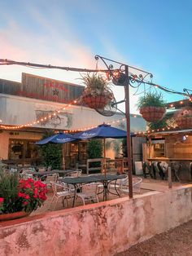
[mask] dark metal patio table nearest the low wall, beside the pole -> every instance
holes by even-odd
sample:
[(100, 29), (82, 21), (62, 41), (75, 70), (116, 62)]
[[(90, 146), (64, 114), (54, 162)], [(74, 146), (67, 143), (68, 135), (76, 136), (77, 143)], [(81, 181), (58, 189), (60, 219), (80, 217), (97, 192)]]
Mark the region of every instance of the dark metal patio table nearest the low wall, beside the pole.
[[(102, 175), (102, 174), (98, 174), (98, 175), (90, 175), (90, 176), (81, 176), (81, 177), (76, 177), (76, 178), (66, 177), (66, 178), (60, 179), (60, 181), (74, 186), (74, 188), (75, 188), (74, 189), (74, 198), (73, 198), (73, 203), (72, 203), (72, 207), (74, 207), (75, 201), (76, 201), (76, 190), (81, 185), (88, 184), (88, 183), (98, 183), (98, 182), (103, 183), (103, 201), (107, 201), (107, 193), (111, 193), (111, 194), (120, 196), (120, 193), (116, 189), (116, 181), (117, 181), (117, 179), (124, 179), (125, 177), (126, 177), (126, 175), (124, 175), (124, 174), (120, 174), (120, 175), (107, 174), (106, 176)], [(113, 193), (108, 189), (108, 185), (112, 181), (115, 181), (116, 193)]]

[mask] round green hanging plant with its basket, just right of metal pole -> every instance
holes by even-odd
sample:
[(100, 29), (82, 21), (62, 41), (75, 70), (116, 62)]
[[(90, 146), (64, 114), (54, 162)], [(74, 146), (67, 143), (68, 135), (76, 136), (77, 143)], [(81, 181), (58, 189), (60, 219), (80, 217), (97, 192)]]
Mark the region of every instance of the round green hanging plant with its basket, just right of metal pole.
[(164, 117), (164, 104), (161, 94), (149, 92), (138, 99), (137, 108), (146, 121), (158, 122)]

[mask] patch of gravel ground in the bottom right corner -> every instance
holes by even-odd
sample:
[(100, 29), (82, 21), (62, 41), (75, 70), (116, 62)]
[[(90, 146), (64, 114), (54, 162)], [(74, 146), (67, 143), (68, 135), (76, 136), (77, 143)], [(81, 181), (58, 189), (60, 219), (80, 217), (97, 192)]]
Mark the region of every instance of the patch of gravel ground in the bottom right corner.
[(191, 256), (192, 220), (168, 232), (133, 245), (116, 256)]

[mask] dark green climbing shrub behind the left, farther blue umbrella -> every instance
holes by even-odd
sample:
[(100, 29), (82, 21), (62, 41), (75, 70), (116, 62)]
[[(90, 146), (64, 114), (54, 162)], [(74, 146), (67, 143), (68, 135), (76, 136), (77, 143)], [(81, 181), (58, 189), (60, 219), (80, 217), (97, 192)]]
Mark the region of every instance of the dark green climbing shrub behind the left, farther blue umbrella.
[[(53, 131), (46, 131), (42, 139), (46, 139), (54, 135)], [(59, 143), (47, 143), (42, 145), (41, 156), (43, 158), (43, 163), (46, 167), (51, 166), (52, 169), (62, 169), (63, 166), (63, 152), (62, 144)]]

